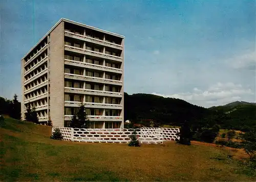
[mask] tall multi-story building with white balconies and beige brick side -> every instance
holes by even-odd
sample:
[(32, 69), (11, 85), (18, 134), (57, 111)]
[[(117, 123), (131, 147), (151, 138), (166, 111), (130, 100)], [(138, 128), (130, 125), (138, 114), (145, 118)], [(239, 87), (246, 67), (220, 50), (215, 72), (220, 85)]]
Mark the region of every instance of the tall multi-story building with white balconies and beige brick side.
[(81, 102), (91, 128), (123, 128), (124, 36), (61, 18), (22, 58), (22, 117), (69, 126)]

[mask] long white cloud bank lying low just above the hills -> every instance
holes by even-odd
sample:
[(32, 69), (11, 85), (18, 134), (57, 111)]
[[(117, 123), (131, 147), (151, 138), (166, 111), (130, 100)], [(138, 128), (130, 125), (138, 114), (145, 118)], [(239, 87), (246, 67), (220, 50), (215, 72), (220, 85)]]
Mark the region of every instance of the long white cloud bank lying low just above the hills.
[(217, 83), (209, 86), (208, 89), (202, 91), (194, 88), (193, 92), (176, 93), (170, 95), (152, 93), (163, 97), (173, 97), (186, 100), (195, 105), (203, 107), (211, 107), (217, 105), (224, 105), (226, 103), (253, 97), (253, 92), (249, 88), (243, 88), (240, 84), (234, 83)]

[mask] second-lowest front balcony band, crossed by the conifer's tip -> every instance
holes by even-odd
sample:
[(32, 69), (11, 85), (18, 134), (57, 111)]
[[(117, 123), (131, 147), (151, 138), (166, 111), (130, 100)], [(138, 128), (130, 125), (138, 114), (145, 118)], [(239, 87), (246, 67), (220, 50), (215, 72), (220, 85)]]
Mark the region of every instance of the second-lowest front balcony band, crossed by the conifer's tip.
[[(79, 101), (65, 101), (66, 107), (80, 107)], [(97, 103), (97, 102), (83, 102), (86, 108), (99, 108), (99, 109), (122, 109), (122, 105), (112, 103)]]

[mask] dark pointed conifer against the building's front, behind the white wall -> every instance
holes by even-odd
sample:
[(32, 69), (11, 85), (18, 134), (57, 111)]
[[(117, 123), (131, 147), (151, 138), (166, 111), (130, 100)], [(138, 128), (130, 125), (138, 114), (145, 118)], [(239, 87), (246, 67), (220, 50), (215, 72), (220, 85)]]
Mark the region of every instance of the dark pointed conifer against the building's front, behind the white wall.
[(89, 128), (90, 127), (88, 115), (86, 114), (86, 108), (84, 107), (83, 103), (81, 103), (81, 106), (79, 107), (78, 112), (73, 115), (70, 123), (70, 127), (73, 127), (73, 128)]

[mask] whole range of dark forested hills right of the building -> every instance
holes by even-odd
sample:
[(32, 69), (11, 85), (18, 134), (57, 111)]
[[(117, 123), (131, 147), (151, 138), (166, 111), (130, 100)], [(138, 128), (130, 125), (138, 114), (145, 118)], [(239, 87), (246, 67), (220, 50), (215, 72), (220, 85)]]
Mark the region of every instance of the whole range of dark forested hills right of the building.
[(256, 125), (256, 105), (237, 101), (206, 109), (177, 98), (124, 93), (124, 119), (135, 123), (142, 122), (144, 125), (148, 125), (148, 120), (153, 120), (158, 125), (178, 126), (185, 120), (214, 122), (222, 128), (246, 131)]

